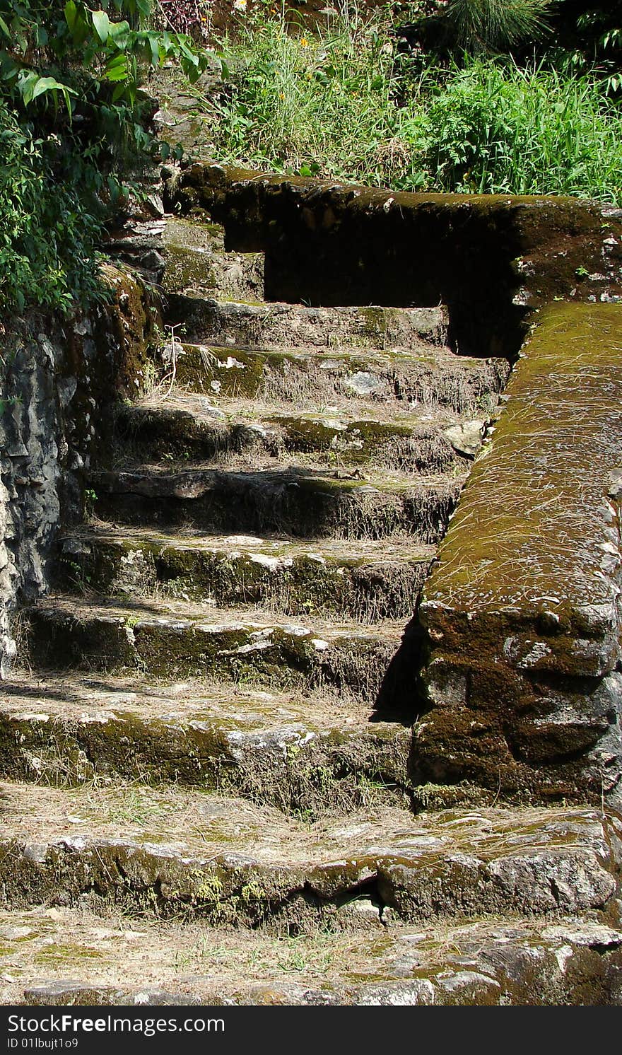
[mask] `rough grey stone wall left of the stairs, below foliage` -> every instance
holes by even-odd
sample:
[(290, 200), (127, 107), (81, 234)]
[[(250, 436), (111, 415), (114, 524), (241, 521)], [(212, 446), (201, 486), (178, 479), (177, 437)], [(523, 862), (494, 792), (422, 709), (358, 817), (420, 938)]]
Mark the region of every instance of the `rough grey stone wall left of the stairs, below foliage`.
[(0, 674), (16, 651), (13, 610), (46, 592), (58, 531), (81, 516), (106, 407), (140, 384), (152, 311), (134, 279), (113, 268), (104, 277), (109, 306), (67, 319), (32, 311), (0, 327)]

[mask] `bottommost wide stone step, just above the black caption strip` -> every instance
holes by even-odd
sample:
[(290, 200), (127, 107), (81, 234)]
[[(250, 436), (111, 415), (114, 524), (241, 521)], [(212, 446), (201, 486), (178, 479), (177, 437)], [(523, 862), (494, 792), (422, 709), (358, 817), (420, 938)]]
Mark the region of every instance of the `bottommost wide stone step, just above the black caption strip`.
[[(0, 1000), (28, 1005), (615, 1005), (619, 929), (581, 919), (278, 937), (80, 909), (0, 913)], [(385, 915), (388, 916), (387, 913)], [(77, 980), (70, 980), (77, 979)], [(210, 1018), (217, 1018), (210, 1013)]]

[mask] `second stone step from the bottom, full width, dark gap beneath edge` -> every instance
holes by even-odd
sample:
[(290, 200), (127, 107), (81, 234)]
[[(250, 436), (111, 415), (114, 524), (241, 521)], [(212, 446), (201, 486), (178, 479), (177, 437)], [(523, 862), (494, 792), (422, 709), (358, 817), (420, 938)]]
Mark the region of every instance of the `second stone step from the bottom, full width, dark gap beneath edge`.
[(2, 802), (0, 907), (18, 912), (80, 904), (295, 934), (338, 923), (361, 896), (381, 916), (430, 920), (592, 913), (615, 906), (618, 891), (620, 825), (596, 810), (413, 818), (385, 807), (306, 824), (210, 792), (135, 785), (3, 784)]

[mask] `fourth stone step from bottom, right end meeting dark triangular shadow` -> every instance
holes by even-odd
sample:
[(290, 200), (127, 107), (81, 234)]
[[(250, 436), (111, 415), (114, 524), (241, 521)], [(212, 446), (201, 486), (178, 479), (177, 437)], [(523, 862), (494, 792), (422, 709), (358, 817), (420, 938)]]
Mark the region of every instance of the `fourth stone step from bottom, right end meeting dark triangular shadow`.
[[(52, 596), (24, 609), (27, 654), (41, 669), (142, 671), (157, 677), (222, 678), (286, 689), (326, 687), (373, 706), (403, 625), (310, 626), (260, 620), (248, 611), (155, 599), (123, 607)], [(395, 709), (413, 712), (414, 686), (395, 687)]]

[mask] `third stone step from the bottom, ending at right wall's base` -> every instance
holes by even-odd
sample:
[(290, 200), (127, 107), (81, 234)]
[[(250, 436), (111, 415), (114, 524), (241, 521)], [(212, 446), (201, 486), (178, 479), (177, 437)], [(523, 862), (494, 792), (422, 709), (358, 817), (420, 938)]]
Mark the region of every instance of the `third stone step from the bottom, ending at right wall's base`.
[(53, 787), (195, 785), (314, 819), (407, 805), (411, 730), (319, 694), (40, 673), (2, 683), (0, 767)]

